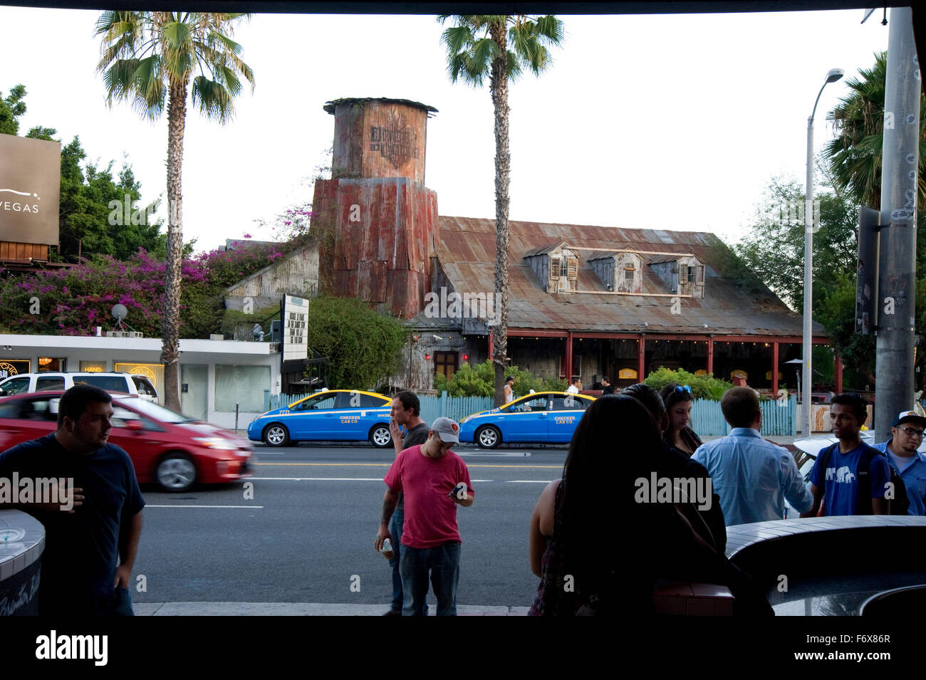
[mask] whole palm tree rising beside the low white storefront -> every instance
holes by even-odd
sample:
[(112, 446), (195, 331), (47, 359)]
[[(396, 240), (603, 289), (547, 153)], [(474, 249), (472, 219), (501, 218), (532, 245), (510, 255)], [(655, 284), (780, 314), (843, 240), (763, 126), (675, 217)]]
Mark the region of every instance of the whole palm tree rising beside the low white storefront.
[(232, 24), (243, 17), (250, 15), (108, 11), (96, 21), (95, 35), (102, 36), (103, 53), (96, 68), (106, 83), (106, 103), (131, 99), (144, 117), (156, 120), (167, 100), (169, 217), (161, 362), (166, 405), (176, 411), (180, 411), (181, 169), (187, 89), (192, 80), (193, 104), (220, 123), (233, 115), (232, 99), (242, 90), (242, 78), (254, 91), (254, 73), (239, 56), (241, 45), (231, 37)]

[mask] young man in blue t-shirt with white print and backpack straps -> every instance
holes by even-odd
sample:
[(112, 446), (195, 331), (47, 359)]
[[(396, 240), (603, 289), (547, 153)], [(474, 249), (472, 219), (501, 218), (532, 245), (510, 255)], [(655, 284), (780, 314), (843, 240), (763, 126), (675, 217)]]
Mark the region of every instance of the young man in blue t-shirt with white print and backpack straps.
[[(839, 443), (820, 450), (817, 462), (810, 471), (810, 493), (813, 507), (801, 517), (813, 517), (820, 511), (823, 500), (823, 514), (889, 514), (888, 500), (884, 498), (891, 479), (887, 460), (878, 451), (864, 443), (858, 432), (868, 419), (867, 403), (857, 394), (844, 392), (832, 399), (830, 421), (832, 434)], [(824, 455), (824, 451), (831, 451)], [(870, 460), (866, 474), (859, 461), (864, 456)], [(826, 469), (823, 469), (823, 464)], [(859, 475), (861, 478), (859, 478)], [(859, 491), (863, 491), (859, 502)], [(871, 499), (870, 507), (865, 502)]]

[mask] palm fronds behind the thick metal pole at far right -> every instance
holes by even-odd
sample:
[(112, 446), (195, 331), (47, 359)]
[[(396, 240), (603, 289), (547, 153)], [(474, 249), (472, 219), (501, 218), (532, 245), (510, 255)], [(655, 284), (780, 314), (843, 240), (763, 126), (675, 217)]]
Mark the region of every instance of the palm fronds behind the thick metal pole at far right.
[[(887, 53), (875, 54), (871, 68), (861, 68), (859, 78), (847, 80), (849, 93), (827, 114), (840, 134), (824, 147), (829, 160), (829, 177), (837, 192), (848, 191), (859, 205), (881, 209), (881, 152), (884, 125), (884, 83), (887, 77)], [(917, 204), (926, 205), (926, 119), (922, 110), (926, 99), (920, 93), (920, 176)], [(895, 120), (895, 125), (903, 125)]]

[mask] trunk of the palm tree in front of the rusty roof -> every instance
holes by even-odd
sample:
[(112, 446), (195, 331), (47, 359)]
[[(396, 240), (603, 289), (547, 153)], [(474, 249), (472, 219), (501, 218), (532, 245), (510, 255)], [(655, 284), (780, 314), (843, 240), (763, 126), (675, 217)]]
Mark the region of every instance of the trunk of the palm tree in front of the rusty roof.
[(508, 153), (508, 57), (506, 25), (491, 27), (492, 40), (501, 50), (492, 62), (489, 92), (495, 110), (495, 297), (500, 305), (498, 323), (493, 328), (495, 368), (495, 406), (505, 402), (505, 371), (508, 352), (508, 179), (511, 155)]

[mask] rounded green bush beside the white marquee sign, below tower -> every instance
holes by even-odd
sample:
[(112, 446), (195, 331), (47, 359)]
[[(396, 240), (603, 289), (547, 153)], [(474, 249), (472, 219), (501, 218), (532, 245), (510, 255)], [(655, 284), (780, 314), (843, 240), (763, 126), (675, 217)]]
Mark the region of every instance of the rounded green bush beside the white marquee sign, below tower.
[(355, 298), (318, 297), (308, 305), (308, 346), (328, 358), (331, 389), (372, 389), (398, 372), (407, 328)]

